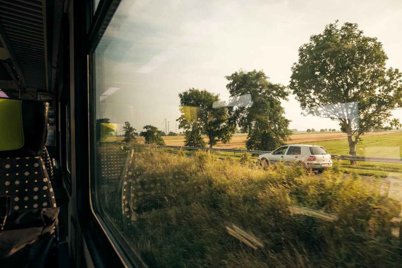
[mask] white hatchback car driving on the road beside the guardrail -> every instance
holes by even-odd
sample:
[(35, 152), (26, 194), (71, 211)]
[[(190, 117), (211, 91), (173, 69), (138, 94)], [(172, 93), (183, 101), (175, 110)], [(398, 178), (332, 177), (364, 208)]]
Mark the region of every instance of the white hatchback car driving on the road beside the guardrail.
[(331, 155), (324, 147), (305, 144), (281, 146), (271, 153), (258, 156), (258, 162), (264, 166), (282, 162), (288, 166), (299, 165), (318, 172), (332, 167)]

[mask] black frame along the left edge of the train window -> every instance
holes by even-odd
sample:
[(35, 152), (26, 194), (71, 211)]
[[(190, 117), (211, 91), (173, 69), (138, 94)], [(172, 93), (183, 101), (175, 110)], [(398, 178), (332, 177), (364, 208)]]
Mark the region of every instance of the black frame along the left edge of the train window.
[(72, 50), (74, 57), (70, 61), (74, 62), (74, 100), (72, 101), (75, 118), (71, 127), (72, 135), (75, 136), (75, 155), (80, 155), (79, 159), (73, 160), (75, 161), (77, 204), (79, 204), (77, 211), (82, 234), (95, 267), (144, 266), (140, 258), (133, 260), (131, 251), (130, 255), (127, 254), (124, 243), (113, 235), (117, 230), (113, 230), (113, 226), (106, 224), (102, 214), (99, 213), (100, 208), (96, 202), (98, 196), (94, 180), (91, 180), (96, 176), (94, 51), (119, 3), (120, 0), (100, 0), (94, 14), (93, 1), (74, 1), (73, 3), (74, 46)]

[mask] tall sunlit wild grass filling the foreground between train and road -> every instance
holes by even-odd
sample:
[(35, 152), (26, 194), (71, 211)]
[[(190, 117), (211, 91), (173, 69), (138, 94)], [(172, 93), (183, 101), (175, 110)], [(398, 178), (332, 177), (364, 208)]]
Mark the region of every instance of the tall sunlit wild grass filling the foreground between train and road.
[[(138, 217), (122, 233), (158, 267), (398, 267), (390, 219), (400, 205), (364, 182), (301, 168), (250, 168), (247, 155), (217, 161), (136, 147), (128, 200)], [(116, 196), (116, 199), (121, 198)], [(301, 206), (336, 221), (291, 213)], [(121, 217), (121, 203), (109, 204)], [(236, 225), (263, 246), (228, 233)], [(122, 227), (123, 228), (123, 227)]]

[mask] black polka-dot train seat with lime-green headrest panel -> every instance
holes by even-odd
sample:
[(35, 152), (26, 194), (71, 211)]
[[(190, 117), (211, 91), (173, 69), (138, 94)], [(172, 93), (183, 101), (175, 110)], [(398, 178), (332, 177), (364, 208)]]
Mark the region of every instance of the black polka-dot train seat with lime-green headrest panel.
[(57, 266), (59, 208), (41, 158), (48, 109), (46, 102), (0, 98), (1, 267)]

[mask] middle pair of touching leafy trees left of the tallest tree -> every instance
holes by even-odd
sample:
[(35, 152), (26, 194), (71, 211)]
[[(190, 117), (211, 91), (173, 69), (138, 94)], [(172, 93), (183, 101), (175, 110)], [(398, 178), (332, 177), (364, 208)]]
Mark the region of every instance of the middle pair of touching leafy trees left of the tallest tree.
[(226, 88), (233, 100), (251, 95), (251, 102), (238, 103), (232, 107), (214, 108), (219, 94), (190, 88), (180, 93), (179, 128), (185, 129), (185, 145), (203, 147), (201, 135), (208, 138), (208, 146), (218, 141), (228, 143), (236, 129), (247, 133), (246, 147), (250, 150), (272, 150), (290, 139), (289, 120), (283, 114), (281, 99), (287, 99), (289, 92), (281, 84), (273, 84), (263, 71), (239, 70), (226, 76)]

